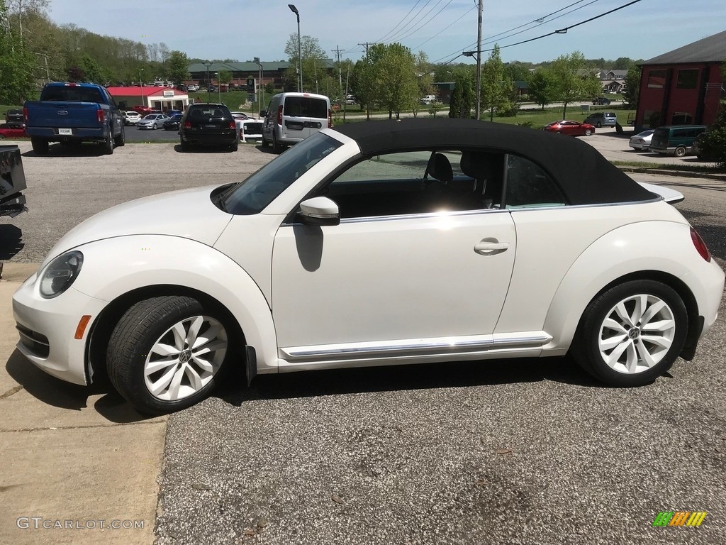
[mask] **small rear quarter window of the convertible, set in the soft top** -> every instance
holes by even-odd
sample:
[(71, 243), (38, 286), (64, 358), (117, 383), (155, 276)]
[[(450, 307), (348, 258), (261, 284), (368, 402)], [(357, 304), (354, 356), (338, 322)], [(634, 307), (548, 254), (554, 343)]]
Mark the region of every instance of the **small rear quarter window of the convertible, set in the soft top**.
[(566, 206), (560, 188), (529, 159), (507, 156), (505, 206), (507, 209)]

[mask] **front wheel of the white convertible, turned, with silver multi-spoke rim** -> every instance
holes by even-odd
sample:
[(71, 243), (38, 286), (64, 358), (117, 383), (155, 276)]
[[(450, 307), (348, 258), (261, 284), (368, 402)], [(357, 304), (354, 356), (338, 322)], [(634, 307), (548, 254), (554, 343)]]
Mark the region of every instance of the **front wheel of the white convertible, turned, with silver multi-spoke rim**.
[[(166, 414), (199, 403), (212, 392), (231, 352), (225, 322), (217, 310), (191, 297), (163, 296), (134, 304), (118, 320), (108, 342), (111, 383), (142, 413)], [(194, 326), (198, 337), (192, 335)], [(208, 340), (193, 342), (202, 336)], [(210, 347), (205, 354), (194, 354), (195, 349)]]

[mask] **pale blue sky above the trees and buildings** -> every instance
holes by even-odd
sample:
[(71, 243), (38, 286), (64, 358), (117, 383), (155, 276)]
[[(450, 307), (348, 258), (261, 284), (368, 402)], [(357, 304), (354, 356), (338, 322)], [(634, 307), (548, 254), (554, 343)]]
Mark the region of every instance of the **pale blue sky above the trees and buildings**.
[[(476, 49), (476, 0), (293, 0), (301, 34), (328, 56), (358, 60), (363, 42), (400, 41), (432, 62)], [(656, 57), (726, 30), (725, 0), (641, 0), (567, 33), (513, 47), (596, 17), (630, 0), (484, 0), (482, 49), (494, 42), (502, 60), (541, 62), (574, 51), (588, 58)], [(278, 0), (52, 0), (55, 23), (142, 43), (163, 42), (189, 57), (286, 60), (297, 35), (295, 15)], [(569, 7), (568, 7), (569, 6)], [(537, 21), (541, 21), (541, 24)], [(510, 32), (507, 32), (510, 31)], [(514, 33), (518, 33), (514, 35)], [(484, 57), (488, 55), (484, 54)], [(459, 57), (456, 62), (466, 61)], [(472, 62), (468, 60), (468, 62)]]

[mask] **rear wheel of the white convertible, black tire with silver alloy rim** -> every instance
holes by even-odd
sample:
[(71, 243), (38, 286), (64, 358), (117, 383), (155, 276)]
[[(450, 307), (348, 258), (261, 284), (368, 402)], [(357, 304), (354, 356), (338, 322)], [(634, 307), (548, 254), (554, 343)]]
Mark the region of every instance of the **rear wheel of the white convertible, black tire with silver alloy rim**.
[[(645, 303), (645, 311), (637, 310), (638, 303)], [(619, 309), (625, 309), (627, 316)], [(642, 321), (645, 316), (648, 318)], [(643, 334), (653, 322), (662, 329)], [(663, 328), (664, 324), (670, 325)], [(590, 302), (572, 350), (580, 366), (602, 382), (616, 387), (643, 386), (671, 368), (687, 334), (688, 312), (673, 288), (653, 280), (630, 280)]]

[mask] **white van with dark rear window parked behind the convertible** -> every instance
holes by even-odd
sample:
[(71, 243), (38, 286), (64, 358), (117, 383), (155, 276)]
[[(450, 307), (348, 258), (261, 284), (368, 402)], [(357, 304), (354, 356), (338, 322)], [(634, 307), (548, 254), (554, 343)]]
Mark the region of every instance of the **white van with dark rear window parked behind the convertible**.
[(270, 100), (263, 119), (262, 145), (272, 142), (274, 153), (333, 126), (330, 99), (324, 94), (280, 93)]

